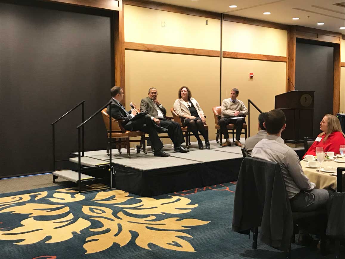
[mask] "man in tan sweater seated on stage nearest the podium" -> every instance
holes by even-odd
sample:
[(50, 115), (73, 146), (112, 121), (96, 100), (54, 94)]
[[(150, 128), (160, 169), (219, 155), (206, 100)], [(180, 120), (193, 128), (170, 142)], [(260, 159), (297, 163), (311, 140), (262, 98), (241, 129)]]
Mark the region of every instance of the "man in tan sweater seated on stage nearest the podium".
[(244, 106), (244, 103), (237, 100), (238, 89), (233, 88), (230, 92), (230, 98), (223, 100), (221, 103), (221, 119), (219, 120), (220, 130), (223, 132), (226, 142), (222, 146), (231, 146), (229, 139), (229, 133), (226, 126), (230, 123), (236, 127), (236, 146), (242, 146), (240, 140), (242, 126), (245, 123), (244, 118), (232, 119), (233, 117), (241, 117), (242, 115), (248, 115), (248, 109)]

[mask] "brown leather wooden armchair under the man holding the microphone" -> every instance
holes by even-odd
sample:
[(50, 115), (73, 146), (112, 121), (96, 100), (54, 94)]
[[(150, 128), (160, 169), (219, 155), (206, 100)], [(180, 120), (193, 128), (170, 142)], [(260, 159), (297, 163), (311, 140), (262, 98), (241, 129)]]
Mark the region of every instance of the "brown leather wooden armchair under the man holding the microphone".
[[(127, 156), (131, 158), (129, 154), (130, 142), (140, 142), (143, 145), (144, 154), (146, 154), (145, 150), (145, 133), (141, 131), (126, 131), (126, 129), (122, 126), (124, 121), (119, 119), (111, 118), (111, 143), (110, 143), (110, 133), (109, 133), (109, 114), (107, 113), (107, 108), (102, 110), (102, 117), (104, 124), (107, 129), (107, 137), (108, 137), (108, 144), (107, 144), (107, 155), (109, 156), (109, 149), (111, 148), (112, 144), (118, 146), (119, 153), (121, 154), (121, 145), (126, 145), (127, 147)], [(131, 137), (141, 137), (140, 140), (130, 140)]]

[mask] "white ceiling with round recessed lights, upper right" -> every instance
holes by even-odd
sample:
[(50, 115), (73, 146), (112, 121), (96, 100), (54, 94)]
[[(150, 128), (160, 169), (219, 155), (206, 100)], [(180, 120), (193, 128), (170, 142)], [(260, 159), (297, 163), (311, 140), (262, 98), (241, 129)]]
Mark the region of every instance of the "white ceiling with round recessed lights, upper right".
[[(345, 30), (345, 7), (336, 6), (344, 0), (154, 0), (177, 6), (226, 13), (259, 20), (300, 25), (323, 30), (341, 32)], [(237, 8), (229, 8), (237, 5)], [(264, 15), (263, 12), (271, 12)], [(299, 20), (292, 20), (298, 17)], [(322, 26), (318, 22), (324, 22)]]

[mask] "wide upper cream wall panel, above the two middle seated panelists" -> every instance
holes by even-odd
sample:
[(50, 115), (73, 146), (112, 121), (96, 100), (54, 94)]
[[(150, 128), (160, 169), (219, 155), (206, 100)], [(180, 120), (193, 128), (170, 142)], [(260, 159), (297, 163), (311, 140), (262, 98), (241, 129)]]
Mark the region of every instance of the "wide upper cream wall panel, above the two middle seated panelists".
[(128, 5), (124, 15), (125, 41), (220, 50), (220, 20)]

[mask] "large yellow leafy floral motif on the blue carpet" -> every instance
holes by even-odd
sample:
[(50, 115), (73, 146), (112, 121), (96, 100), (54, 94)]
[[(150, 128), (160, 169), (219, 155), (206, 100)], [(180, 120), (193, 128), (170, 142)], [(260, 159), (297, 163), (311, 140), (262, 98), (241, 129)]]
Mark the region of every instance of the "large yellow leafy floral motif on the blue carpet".
[[(73, 233), (76, 235), (80, 231), (90, 231), (91, 236), (86, 238), (83, 248), (86, 253), (96, 253), (110, 248), (114, 243), (120, 247), (125, 246), (132, 239), (130, 231), (135, 231), (138, 233), (135, 243), (141, 248), (150, 249), (150, 246), (156, 245), (170, 250), (194, 252), (195, 249), (187, 241), (193, 237), (180, 230), (209, 223), (198, 219), (166, 217), (168, 214), (188, 213), (198, 206), (189, 204), (191, 201), (185, 197), (134, 198), (128, 192), (109, 190), (98, 192), (91, 200), (108, 206), (101, 207), (83, 204), (86, 196), (75, 193), (75, 190), (61, 189), (53, 193), (54, 198), (45, 198), (46, 201), (59, 205), (32, 202), (32, 199), (38, 200), (47, 195), (47, 192), (41, 192), (0, 198), (0, 213), (28, 214), (29, 217), (22, 220), (17, 228), (0, 230), (0, 240), (18, 240), (20, 242), (16, 244), (24, 245), (47, 240), (48, 237), (46, 243), (55, 243), (73, 238)], [(132, 204), (120, 204), (130, 199)], [(30, 203), (25, 203), (28, 201)], [(20, 202), (23, 204), (18, 204)], [(75, 207), (72, 210), (66, 205), (73, 202), (80, 203), (77, 207), (81, 205), (84, 215), (81, 218), (72, 214)], [(139, 217), (132, 217), (128, 213)], [(160, 215), (159, 219), (153, 214)], [(49, 220), (52, 216), (54, 219)], [(35, 217), (40, 217), (40, 220)], [(41, 217), (46, 218), (42, 220)], [(101, 224), (102, 227), (88, 229), (91, 222), (98, 222), (97, 225)]]

